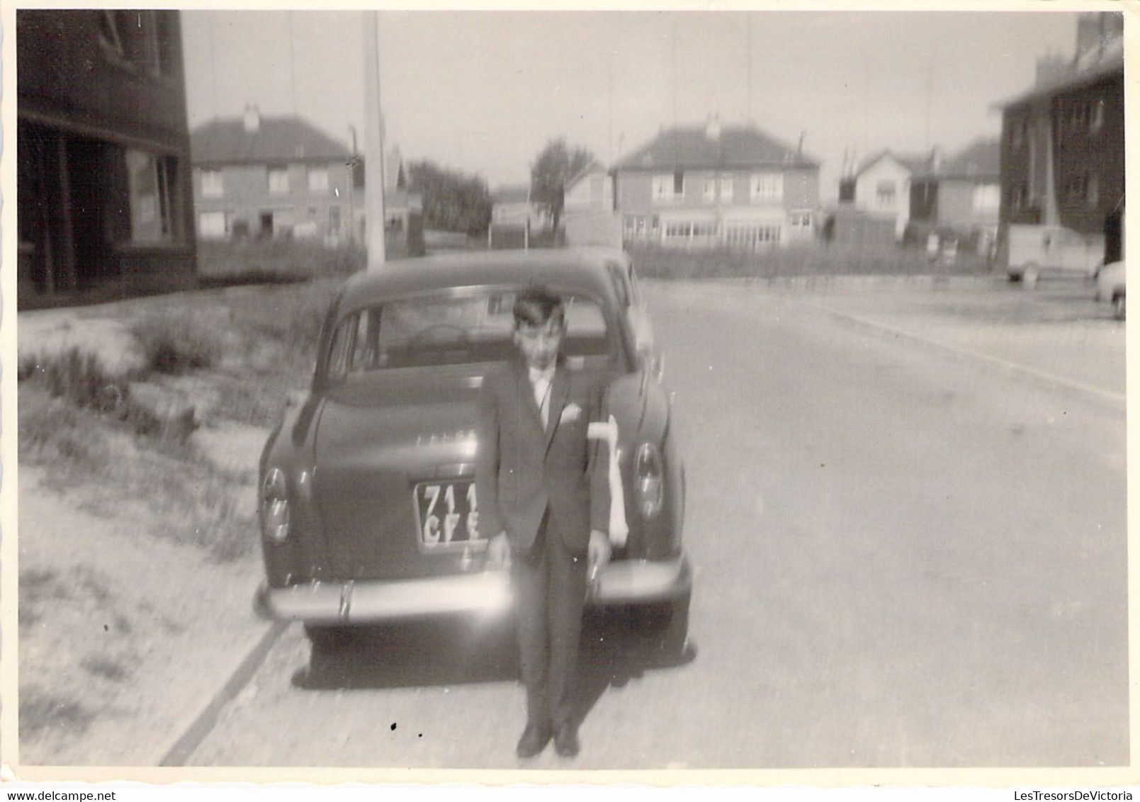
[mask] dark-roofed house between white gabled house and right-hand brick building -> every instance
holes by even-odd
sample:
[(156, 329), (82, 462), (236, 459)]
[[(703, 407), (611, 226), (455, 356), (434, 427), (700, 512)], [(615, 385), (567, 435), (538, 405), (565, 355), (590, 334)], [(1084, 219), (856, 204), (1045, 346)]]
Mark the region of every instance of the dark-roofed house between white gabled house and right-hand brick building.
[(1001, 200), (1001, 142), (977, 139), (961, 152), (911, 175), (911, 224), (920, 234), (938, 231), (992, 240)]

